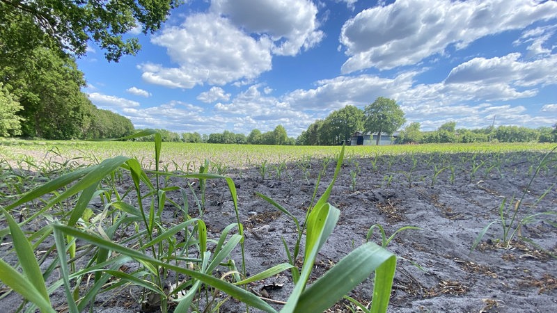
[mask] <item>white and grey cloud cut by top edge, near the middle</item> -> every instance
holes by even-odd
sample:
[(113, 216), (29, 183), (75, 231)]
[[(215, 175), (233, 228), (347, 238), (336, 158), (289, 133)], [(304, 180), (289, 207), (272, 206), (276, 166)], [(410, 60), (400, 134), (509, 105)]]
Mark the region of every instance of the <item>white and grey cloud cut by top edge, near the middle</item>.
[(248, 33), (270, 38), (274, 54), (295, 56), (324, 35), (317, 30), (317, 7), (308, 0), (258, 0), (256, 5), (252, 0), (214, 0), (211, 9)]

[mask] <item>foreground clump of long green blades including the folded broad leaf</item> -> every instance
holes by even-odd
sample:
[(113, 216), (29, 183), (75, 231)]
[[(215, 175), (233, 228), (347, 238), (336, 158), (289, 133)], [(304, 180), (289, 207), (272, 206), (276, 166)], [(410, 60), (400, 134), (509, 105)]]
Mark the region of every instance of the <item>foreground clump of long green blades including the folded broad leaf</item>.
[[(137, 159), (113, 157), (97, 165), (69, 170), (28, 193), (16, 195), (14, 202), (1, 209), (7, 222), (4, 225), (8, 227), (0, 230), (0, 236), (11, 235), (19, 266), (1, 260), (0, 280), (30, 301), (24, 303), (27, 310), (33, 312), (38, 307), (42, 312), (54, 312), (49, 297), (63, 289), (68, 312), (84, 312), (95, 303), (98, 294), (132, 284), (144, 290), (138, 296), (152, 305), (148, 308), (161, 312), (202, 312), (203, 306), (206, 312), (213, 312), (221, 305), (214, 303), (219, 292), (226, 294), (225, 301), (232, 297), (246, 303), (246, 311), (256, 307), (264, 312), (276, 312), (244, 286), (293, 268), (292, 265), (278, 264), (245, 278), (244, 232), (233, 180), (208, 174), (205, 170), (193, 175), (159, 171), (161, 143), (162, 137), (155, 134), (153, 172), (143, 170)], [(327, 203), (327, 199), (340, 171), (342, 156), (343, 152), (333, 181), (308, 212), (301, 271), (281, 312), (323, 312), (374, 271), (372, 312), (386, 312), (389, 305), (396, 258), (375, 243), (356, 248), (325, 275), (306, 286), (315, 258), (340, 216), (340, 210)], [(123, 172), (132, 179), (132, 186), (124, 195), (131, 202), (123, 200), (116, 186), (115, 177)], [(156, 184), (152, 183), (151, 175)], [(203, 220), (191, 218), (187, 210), (166, 197), (167, 193), (180, 191), (180, 187), (161, 188), (159, 177), (222, 179), (229, 188), (237, 223), (225, 227), (217, 239), (208, 238)], [(97, 197), (106, 205), (93, 211), (88, 205)], [(22, 216), (18, 224), (13, 211), (22, 204), (36, 202), (41, 203), (37, 211), (32, 216)], [(172, 221), (163, 220), (162, 211), (167, 207), (182, 211), (182, 216)], [(56, 216), (56, 220), (43, 223), (40, 219), (44, 216)], [(44, 226), (27, 237), (22, 227), (29, 224)], [(128, 228), (135, 229), (135, 234), (119, 235)], [(183, 236), (183, 239), (178, 241), (176, 236)], [(49, 238), (54, 239), (54, 244), (47, 241)], [(51, 246), (45, 248), (49, 244)], [(238, 245), (242, 253), (241, 270), (230, 259), (230, 252)], [(36, 257), (39, 247), (47, 250), (45, 257)], [(86, 253), (77, 253), (78, 248), (86, 248)], [(45, 262), (47, 257), (51, 263)], [(22, 268), (22, 273), (17, 267)], [(54, 268), (59, 268), (59, 278), (54, 277)], [(227, 274), (220, 275), (219, 271)], [(166, 287), (168, 281), (174, 283)], [(173, 300), (179, 293), (180, 299)], [(175, 307), (170, 307), (171, 303)]]

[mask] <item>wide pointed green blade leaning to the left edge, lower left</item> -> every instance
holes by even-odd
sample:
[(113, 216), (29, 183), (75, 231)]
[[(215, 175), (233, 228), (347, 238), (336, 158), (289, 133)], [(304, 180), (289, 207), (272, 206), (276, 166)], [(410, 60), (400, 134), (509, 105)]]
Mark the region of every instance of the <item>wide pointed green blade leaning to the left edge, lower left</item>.
[(29, 280), (29, 283), (33, 284), (34, 289), (38, 291), (40, 296), (47, 303), (50, 303), (45, 279), (42, 278), (42, 272), (40, 271), (39, 264), (35, 258), (35, 253), (33, 252), (31, 243), (27, 240), (22, 229), (19, 228), (19, 225), (17, 225), (11, 214), (9, 214), (5, 209), (0, 208), (0, 211), (8, 221), (15, 253), (17, 254), (17, 259), (19, 259), (19, 264), (22, 266), (23, 274), (25, 275), (26, 280)]

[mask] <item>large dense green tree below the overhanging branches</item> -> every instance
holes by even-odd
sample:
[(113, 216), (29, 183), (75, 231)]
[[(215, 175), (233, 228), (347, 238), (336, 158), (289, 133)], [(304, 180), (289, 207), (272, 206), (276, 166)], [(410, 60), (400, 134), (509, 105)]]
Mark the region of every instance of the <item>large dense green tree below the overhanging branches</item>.
[(13, 90), (23, 110), (23, 136), (81, 138), (95, 106), (81, 92), (83, 73), (73, 58), (39, 48), (24, 61), (10, 63), (0, 49), (0, 82)]

